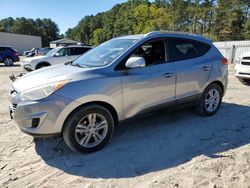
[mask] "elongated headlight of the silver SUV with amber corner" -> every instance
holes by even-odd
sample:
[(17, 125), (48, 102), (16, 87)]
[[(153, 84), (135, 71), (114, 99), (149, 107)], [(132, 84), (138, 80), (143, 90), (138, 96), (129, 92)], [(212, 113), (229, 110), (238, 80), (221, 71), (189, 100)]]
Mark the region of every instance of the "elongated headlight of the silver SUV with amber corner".
[(35, 87), (29, 90), (26, 90), (20, 94), (21, 100), (39, 100), (45, 97), (48, 97), (52, 93), (56, 92), (62, 88), (68, 80), (63, 80), (59, 82), (54, 82), (50, 84), (45, 84), (39, 87)]

